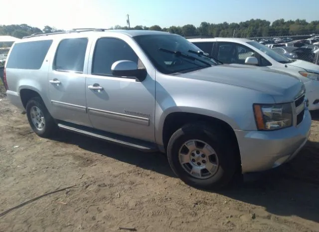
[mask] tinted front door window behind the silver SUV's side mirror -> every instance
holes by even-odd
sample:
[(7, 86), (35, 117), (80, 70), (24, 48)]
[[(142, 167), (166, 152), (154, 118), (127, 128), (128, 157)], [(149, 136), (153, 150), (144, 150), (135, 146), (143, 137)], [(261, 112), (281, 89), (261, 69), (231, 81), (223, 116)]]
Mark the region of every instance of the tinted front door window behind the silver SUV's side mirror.
[(112, 75), (111, 66), (118, 60), (131, 60), (138, 63), (139, 58), (123, 40), (100, 38), (95, 46), (92, 74)]

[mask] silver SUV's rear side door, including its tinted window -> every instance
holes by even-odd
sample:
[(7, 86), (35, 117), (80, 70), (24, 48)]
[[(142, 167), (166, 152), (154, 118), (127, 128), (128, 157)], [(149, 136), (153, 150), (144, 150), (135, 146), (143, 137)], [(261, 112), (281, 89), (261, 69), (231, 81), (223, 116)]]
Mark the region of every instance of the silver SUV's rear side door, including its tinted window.
[[(91, 126), (85, 97), (87, 38), (60, 41), (48, 75), (50, 113), (55, 119)], [(86, 65), (87, 66), (87, 65)]]

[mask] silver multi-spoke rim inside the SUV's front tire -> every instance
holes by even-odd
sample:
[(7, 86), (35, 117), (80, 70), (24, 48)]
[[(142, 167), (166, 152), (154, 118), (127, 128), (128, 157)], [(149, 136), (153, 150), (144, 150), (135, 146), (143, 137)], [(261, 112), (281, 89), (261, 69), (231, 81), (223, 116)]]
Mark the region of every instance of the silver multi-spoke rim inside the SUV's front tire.
[(208, 179), (219, 167), (215, 150), (201, 140), (188, 140), (179, 149), (178, 160), (182, 168), (192, 177)]

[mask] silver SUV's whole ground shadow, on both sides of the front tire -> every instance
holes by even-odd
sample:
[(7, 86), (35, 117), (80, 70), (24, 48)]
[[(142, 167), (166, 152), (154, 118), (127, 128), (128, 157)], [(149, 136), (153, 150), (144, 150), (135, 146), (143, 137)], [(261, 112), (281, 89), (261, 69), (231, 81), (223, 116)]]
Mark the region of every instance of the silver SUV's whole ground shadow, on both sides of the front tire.
[[(160, 153), (143, 153), (66, 131), (55, 140), (175, 178), (166, 157)], [(262, 206), (274, 215), (294, 215), (319, 223), (319, 143), (308, 142), (290, 163), (256, 180), (234, 181), (229, 188), (217, 193)]]

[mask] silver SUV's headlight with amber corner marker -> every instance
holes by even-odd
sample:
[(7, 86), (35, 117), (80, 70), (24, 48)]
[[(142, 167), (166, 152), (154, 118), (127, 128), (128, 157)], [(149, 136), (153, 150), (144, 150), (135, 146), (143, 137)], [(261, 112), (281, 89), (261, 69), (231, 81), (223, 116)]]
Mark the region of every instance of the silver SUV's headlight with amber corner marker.
[(254, 104), (254, 113), (258, 130), (277, 130), (293, 123), (291, 103)]

